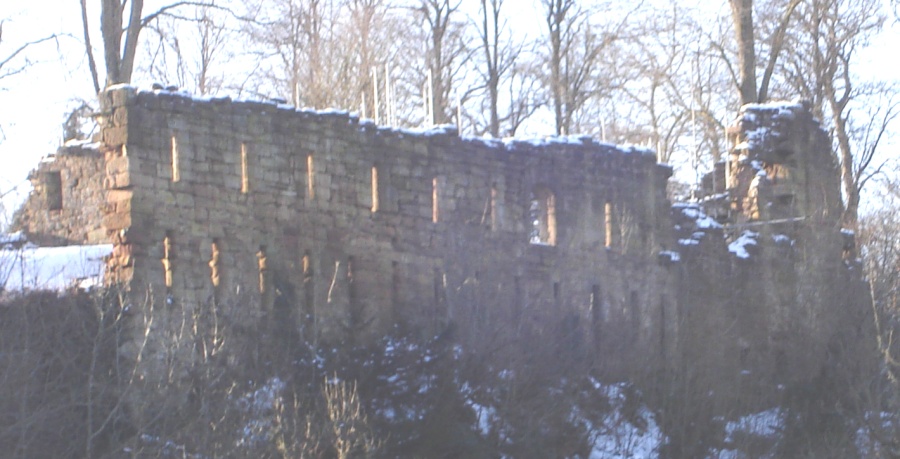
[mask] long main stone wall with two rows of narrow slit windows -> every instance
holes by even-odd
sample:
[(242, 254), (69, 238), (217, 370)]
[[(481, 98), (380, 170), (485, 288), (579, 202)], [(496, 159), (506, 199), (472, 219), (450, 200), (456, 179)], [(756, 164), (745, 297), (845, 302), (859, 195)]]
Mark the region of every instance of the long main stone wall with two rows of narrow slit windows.
[(129, 88), (102, 98), (110, 268), (133, 291), (290, 318), (309, 339), (502, 324), (538, 340), (568, 327), (622, 356), (671, 348), (670, 169), (651, 152)]

